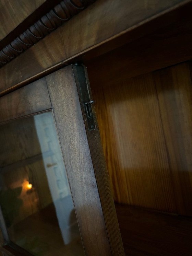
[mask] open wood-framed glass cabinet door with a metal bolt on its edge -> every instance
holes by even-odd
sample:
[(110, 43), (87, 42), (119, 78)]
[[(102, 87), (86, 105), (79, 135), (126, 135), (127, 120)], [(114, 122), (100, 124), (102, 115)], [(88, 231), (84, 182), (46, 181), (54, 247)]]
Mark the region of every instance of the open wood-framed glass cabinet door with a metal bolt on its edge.
[(92, 103), (75, 65), (0, 98), (3, 253), (124, 255)]

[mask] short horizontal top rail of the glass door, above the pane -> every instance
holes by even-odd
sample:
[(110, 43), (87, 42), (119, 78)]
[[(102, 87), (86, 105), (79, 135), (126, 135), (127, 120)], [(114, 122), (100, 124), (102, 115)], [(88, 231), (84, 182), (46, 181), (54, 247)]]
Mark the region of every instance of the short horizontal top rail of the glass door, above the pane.
[(0, 123), (51, 109), (44, 78), (0, 98)]

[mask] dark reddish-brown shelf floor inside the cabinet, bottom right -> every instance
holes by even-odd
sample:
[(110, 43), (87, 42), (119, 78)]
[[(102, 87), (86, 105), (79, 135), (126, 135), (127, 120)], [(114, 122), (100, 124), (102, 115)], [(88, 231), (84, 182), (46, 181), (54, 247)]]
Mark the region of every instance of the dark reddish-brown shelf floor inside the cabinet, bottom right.
[(190, 256), (192, 220), (116, 204), (126, 256)]

